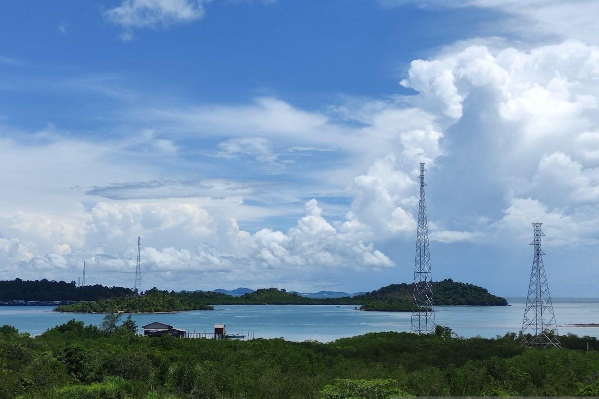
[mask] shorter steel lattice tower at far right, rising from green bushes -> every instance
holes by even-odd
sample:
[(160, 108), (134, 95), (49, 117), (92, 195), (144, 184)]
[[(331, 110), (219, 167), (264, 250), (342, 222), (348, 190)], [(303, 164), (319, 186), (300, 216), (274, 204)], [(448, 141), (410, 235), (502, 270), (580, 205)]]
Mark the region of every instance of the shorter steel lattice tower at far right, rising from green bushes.
[[(534, 245), (534, 260), (530, 284), (528, 284), (524, 321), (522, 321), (522, 334), (524, 335), (522, 345), (561, 348), (549, 294), (549, 284), (547, 284), (543, 265), (544, 252), (541, 250), (541, 236), (545, 234), (541, 232), (541, 224), (543, 223), (533, 223), (534, 240), (530, 245)], [(531, 334), (532, 338), (527, 338), (527, 334)]]

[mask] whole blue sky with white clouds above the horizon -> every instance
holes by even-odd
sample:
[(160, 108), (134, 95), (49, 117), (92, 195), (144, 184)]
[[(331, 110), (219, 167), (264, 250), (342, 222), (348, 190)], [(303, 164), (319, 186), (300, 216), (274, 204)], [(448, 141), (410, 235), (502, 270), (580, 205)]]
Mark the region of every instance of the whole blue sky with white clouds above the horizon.
[(594, 0), (0, 2), (0, 279), (597, 297)]

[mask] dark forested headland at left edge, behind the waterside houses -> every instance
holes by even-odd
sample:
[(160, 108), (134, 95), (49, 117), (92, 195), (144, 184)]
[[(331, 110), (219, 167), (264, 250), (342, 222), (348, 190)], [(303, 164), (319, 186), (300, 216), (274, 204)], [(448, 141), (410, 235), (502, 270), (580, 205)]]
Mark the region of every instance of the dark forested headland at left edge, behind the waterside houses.
[(0, 301), (93, 301), (131, 295), (130, 288), (86, 285), (77, 287), (74, 281), (23, 281), (22, 279), (0, 281)]

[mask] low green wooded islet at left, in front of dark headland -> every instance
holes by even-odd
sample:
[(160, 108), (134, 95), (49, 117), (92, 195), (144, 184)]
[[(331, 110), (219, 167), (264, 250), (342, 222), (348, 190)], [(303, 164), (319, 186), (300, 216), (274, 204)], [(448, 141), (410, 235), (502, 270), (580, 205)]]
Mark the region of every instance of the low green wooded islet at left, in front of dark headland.
[(83, 301), (56, 307), (58, 312), (78, 313), (152, 313), (180, 312), (183, 310), (211, 310), (212, 306), (195, 301), (193, 293), (158, 291), (156, 288), (143, 295), (130, 295), (108, 300)]

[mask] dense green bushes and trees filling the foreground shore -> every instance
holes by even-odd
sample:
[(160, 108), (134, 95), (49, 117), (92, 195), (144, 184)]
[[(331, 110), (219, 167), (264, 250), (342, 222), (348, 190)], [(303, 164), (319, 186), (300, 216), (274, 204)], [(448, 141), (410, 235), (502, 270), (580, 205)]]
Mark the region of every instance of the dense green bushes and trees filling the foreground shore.
[(0, 399), (389, 399), (599, 394), (597, 339), (525, 349), (515, 334), (373, 333), (331, 343), (141, 337), (131, 319), (69, 321), (38, 337), (0, 328)]

